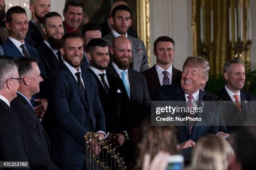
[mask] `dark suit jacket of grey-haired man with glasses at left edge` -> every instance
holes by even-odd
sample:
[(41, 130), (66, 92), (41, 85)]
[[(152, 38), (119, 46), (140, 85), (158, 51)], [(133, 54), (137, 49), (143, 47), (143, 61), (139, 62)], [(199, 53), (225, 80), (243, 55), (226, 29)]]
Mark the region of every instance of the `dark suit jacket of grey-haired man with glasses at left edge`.
[(3, 100), (0, 110), (0, 161), (28, 161), (26, 137), (17, 115)]

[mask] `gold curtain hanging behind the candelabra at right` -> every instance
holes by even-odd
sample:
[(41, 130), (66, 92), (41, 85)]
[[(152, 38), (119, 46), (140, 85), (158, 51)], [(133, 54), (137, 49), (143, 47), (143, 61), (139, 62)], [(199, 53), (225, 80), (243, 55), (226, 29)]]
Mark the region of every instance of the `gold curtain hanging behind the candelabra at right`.
[[(238, 4), (243, 7), (243, 40), (247, 37), (247, 7), (249, 0), (192, 0), (192, 39), (193, 55), (198, 56), (197, 46), (200, 43), (200, 7), (203, 10), (204, 43), (212, 48), (209, 52), (210, 72), (220, 74), (226, 61), (234, 59), (234, 9)], [(229, 38), (229, 7), (231, 9), (231, 37)], [(213, 44), (210, 42), (211, 9), (213, 10)], [(238, 18), (238, 17), (237, 17)], [(244, 42), (245, 42), (244, 41)], [(242, 53), (242, 60), (249, 63), (249, 52)]]

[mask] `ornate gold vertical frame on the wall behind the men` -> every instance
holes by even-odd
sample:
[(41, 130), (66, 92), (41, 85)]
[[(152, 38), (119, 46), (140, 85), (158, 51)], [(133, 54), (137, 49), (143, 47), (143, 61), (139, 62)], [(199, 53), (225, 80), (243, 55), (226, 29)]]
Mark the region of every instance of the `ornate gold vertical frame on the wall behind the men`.
[(145, 43), (148, 52), (148, 64), (150, 67), (150, 22), (149, 0), (137, 0), (137, 31), (140, 39)]

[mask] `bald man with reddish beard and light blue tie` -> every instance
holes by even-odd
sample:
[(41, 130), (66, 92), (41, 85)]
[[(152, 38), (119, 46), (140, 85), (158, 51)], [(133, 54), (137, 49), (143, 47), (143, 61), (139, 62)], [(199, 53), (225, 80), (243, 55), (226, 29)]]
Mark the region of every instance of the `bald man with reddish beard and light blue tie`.
[(107, 71), (123, 81), (126, 95), (130, 99), (132, 127), (138, 127), (145, 116), (143, 113), (146, 114), (145, 108), (151, 102), (145, 77), (129, 68), (133, 56), (131, 41), (127, 37), (116, 37), (110, 52), (113, 55), (113, 62), (108, 66)]

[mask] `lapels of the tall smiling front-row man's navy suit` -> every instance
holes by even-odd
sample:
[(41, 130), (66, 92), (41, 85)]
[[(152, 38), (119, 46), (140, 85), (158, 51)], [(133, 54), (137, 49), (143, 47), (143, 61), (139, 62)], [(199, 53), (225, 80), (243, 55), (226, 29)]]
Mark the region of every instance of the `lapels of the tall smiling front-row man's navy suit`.
[[(80, 96), (81, 100), (84, 102), (84, 105), (87, 107), (87, 102), (85, 101), (85, 98), (87, 98), (86, 84), (84, 83), (85, 96), (83, 96), (82, 91), (80, 90), (80, 87), (77, 83), (77, 80), (74, 78), (74, 76), (70, 72), (69, 68), (64, 63), (62, 63), (60, 66), (61, 66), (61, 69), (62, 69), (64, 75), (66, 75), (68, 77), (68, 79), (70, 80), (70, 82), (72, 82), (73, 87), (77, 90), (78, 95)], [(84, 77), (83, 77), (83, 80), (84, 80)]]

